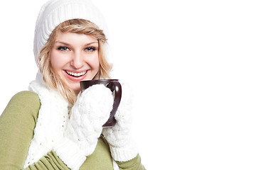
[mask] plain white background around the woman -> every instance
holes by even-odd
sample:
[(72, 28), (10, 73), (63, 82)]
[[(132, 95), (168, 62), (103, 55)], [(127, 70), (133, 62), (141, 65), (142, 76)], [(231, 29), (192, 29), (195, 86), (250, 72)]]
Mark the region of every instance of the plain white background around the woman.
[[(134, 89), (146, 169), (256, 169), (254, 1), (95, 0), (110, 29), (114, 77)], [(0, 6), (0, 111), (36, 77), (43, 0)]]

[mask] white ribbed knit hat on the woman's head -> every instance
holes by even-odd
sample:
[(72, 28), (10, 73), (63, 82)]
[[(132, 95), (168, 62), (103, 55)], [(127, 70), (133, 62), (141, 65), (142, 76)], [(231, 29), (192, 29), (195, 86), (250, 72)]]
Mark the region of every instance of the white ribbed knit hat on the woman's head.
[(78, 18), (95, 23), (107, 36), (105, 19), (90, 0), (50, 0), (42, 6), (34, 37), (36, 61), (54, 28), (64, 21)]

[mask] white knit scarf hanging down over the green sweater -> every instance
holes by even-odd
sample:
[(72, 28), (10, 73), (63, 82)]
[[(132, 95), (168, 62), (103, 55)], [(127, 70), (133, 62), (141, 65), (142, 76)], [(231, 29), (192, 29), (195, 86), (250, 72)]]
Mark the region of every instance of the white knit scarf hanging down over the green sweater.
[[(31, 82), (28, 89), (38, 94), (41, 108), (38, 113), (33, 139), (23, 166), (24, 169), (38, 162), (55, 145), (58, 145), (57, 141), (63, 137), (67, 126), (69, 113), (68, 102), (57, 91), (51, 90), (46, 86), (41, 74), (38, 74), (37, 79)], [(114, 159), (113, 166), (114, 170), (119, 169)]]

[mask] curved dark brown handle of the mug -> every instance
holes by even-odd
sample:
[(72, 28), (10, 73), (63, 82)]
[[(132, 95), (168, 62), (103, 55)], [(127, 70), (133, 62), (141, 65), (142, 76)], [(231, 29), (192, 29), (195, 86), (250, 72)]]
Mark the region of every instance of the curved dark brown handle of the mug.
[(122, 97), (122, 86), (119, 83), (119, 81), (110, 81), (110, 83), (108, 83), (106, 86), (112, 92), (114, 91), (114, 103), (113, 103), (112, 111), (110, 112), (110, 118), (102, 126), (104, 128), (112, 127), (115, 125), (116, 120), (114, 119), (114, 114), (117, 112), (117, 108), (119, 106), (119, 103), (120, 103), (121, 97)]

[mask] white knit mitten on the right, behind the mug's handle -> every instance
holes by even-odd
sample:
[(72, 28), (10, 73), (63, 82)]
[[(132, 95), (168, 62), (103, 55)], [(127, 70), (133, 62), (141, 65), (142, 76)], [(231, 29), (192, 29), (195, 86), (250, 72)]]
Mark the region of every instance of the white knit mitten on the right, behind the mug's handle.
[(104, 128), (102, 134), (110, 144), (110, 151), (115, 161), (126, 162), (138, 154), (138, 149), (129, 134), (131, 130), (132, 96), (129, 86), (122, 84), (122, 98), (115, 113), (116, 125)]

